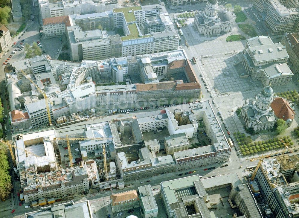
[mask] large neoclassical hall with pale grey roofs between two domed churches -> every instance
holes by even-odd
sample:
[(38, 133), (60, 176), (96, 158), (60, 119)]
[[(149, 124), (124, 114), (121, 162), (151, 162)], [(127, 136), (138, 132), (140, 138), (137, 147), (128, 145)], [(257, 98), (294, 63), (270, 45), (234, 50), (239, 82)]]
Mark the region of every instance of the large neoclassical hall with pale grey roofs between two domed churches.
[(247, 40), (241, 64), (246, 73), (241, 76), (260, 80), (263, 86), (282, 86), (292, 78), (292, 71), (286, 64), (289, 55), (286, 47), (273, 43), (268, 36), (256, 36)]

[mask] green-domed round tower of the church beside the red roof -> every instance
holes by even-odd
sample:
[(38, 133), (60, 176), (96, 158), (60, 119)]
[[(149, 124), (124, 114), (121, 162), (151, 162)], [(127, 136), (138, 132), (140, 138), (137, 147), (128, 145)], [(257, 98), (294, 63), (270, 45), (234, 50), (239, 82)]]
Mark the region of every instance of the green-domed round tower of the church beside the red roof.
[(271, 86), (263, 88), (262, 92), (257, 95), (257, 101), (255, 102), (254, 108), (260, 112), (265, 113), (273, 101), (273, 89)]

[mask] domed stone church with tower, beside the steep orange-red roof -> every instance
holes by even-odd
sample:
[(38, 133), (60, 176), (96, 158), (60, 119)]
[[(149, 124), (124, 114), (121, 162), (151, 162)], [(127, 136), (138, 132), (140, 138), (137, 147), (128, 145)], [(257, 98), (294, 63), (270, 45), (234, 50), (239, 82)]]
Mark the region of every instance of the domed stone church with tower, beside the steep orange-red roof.
[(272, 129), (276, 116), (271, 108), (273, 101), (273, 90), (270, 86), (263, 88), (257, 95), (256, 101), (249, 101), (241, 110), (241, 117), (246, 128), (253, 128), (255, 132), (263, 129)]

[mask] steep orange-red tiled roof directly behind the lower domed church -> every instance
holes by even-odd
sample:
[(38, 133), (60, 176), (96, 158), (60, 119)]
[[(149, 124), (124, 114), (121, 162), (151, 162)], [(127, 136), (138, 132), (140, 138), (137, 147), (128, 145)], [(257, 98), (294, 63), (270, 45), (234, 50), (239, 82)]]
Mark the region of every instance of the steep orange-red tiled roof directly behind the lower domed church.
[(294, 120), (295, 118), (295, 112), (291, 108), (289, 102), (281, 97), (277, 97), (273, 100), (271, 108), (273, 109), (274, 114), (284, 121), (288, 119)]

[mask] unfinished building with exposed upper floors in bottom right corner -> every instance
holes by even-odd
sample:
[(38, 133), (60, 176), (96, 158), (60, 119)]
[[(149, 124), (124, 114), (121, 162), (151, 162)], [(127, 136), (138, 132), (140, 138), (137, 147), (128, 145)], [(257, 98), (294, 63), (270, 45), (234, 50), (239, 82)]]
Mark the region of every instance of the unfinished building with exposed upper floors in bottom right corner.
[(289, 156), (267, 158), (263, 159), (257, 170), (257, 182), (275, 218), (299, 216), (299, 183), (286, 181), (294, 173), (297, 164), (298, 160)]

